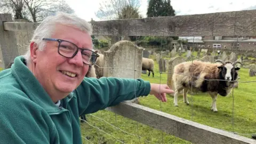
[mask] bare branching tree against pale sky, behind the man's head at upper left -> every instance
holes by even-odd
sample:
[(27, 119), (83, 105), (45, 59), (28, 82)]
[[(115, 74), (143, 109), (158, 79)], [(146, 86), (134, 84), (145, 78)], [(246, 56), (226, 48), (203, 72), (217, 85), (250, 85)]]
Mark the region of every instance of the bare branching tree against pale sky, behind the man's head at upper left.
[(74, 13), (65, 0), (2, 0), (1, 11), (13, 13), (14, 19), (39, 22), (58, 11)]

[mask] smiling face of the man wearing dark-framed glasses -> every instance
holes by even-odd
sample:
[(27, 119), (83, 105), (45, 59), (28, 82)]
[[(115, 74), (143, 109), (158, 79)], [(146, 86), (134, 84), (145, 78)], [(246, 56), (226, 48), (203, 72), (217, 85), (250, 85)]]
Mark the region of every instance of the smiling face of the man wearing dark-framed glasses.
[[(83, 49), (92, 50), (91, 36), (76, 28), (58, 25), (52, 38), (63, 39)], [(70, 93), (75, 90), (89, 69), (89, 65), (82, 61), (81, 51), (78, 51), (71, 59), (62, 57), (58, 53), (58, 42), (46, 41), (44, 51), (37, 50), (35, 53), (34, 74), (48, 93), (55, 91), (54, 95)], [(70, 73), (76, 76), (68, 76)]]

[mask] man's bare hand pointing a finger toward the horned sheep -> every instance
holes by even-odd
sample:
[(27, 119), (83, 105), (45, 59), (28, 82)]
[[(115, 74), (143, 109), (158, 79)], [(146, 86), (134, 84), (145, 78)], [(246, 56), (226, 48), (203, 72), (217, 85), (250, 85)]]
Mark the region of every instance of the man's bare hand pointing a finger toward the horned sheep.
[(149, 94), (154, 94), (158, 100), (162, 100), (162, 102), (166, 102), (166, 93), (173, 93), (174, 91), (170, 89), (170, 87), (166, 84), (150, 84), (151, 91)]

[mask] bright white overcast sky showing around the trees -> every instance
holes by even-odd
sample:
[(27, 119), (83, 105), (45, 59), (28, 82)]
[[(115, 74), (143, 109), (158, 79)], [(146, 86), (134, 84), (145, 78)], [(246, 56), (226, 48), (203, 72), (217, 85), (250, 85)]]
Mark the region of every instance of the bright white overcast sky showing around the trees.
[[(75, 10), (76, 15), (86, 21), (90, 21), (91, 18), (95, 21), (100, 20), (96, 17), (95, 12), (99, 10), (100, 3), (103, 1), (108, 0), (66, 0), (70, 7)], [(139, 11), (143, 17), (146, 17), (148, 0), (140, 1)], [(176, 15), (256, 10), (255, 0), (171, 0), (171, 5)]]

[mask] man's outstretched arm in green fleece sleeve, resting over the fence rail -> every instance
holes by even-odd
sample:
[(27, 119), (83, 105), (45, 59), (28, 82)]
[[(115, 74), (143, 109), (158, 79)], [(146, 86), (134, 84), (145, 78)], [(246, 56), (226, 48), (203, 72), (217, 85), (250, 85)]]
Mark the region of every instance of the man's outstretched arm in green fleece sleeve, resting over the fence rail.
[(149, 92), (148, 81), (114, 77), (84, 78), (82, 84), (75, 90), (80, 115), (94, 113), (124, 100), (146, 96)]

